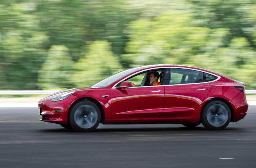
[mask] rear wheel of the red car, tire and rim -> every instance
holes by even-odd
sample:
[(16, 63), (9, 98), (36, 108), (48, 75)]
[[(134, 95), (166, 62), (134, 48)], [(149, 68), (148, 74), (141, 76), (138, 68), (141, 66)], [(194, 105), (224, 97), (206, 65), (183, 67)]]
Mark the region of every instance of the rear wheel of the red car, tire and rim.
[(223, 130), (231, 120), (230, 108), (223, 101), (211, 101), (204, 107), (201, 120), (209, 130)]

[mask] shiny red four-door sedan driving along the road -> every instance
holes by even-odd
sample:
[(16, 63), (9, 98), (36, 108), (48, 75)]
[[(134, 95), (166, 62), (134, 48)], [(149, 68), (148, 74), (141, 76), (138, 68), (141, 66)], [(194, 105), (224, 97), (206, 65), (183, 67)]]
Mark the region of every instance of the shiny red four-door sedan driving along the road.
[(116, 73), (88, 88), (39, 101), (39, 120), (77, 131), (103, 124), (182, 124), (222, 130), (248, 109), (244, 83), (205, 69), (148, 65)]

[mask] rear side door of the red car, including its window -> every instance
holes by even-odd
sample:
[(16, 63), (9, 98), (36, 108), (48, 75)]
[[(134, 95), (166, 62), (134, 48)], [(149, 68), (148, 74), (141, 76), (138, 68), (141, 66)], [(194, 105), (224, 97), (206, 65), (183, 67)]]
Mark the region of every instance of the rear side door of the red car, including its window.
[(204, 82), (203, 75), (193, 69), (170, 68), (169, 85), (165, 86), (164, 117), (187, 117), (199, 107), (212, 88)]

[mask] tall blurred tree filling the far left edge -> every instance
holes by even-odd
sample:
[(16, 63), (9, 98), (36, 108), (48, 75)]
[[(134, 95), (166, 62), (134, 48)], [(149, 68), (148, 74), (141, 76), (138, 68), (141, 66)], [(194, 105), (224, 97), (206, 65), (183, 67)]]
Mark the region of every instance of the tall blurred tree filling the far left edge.
[(0, 89), (38, 89), (38, 70), (46, 56), (48, 37), (33, 15), (35, 4), (14, 2), (0, 2), (0, 67), (6, 81), (0, 83)]

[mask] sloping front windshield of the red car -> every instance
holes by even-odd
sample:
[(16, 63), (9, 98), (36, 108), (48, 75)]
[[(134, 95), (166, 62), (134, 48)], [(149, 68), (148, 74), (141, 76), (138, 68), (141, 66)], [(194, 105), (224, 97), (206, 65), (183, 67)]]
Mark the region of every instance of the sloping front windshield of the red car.
[(147, 66), (143, 66), (143, 67), (136, 67), (136, 68), (132, 68), (132, 69), (127, 69), (125, 71), (121, 71), (118, 72), (110, 77), (107, 77), (106, 79), (103, 79), (102, 81), (92, 85), (91, 87), (106, 87), (112, 83), (114, 83), (115, 81), (117, 81), (118, 79), (121, 79), (122, 77), (129, 75), (130, 73), (133, 73), (135, 71), (138, 71), (140, 69), (144, 69)]

